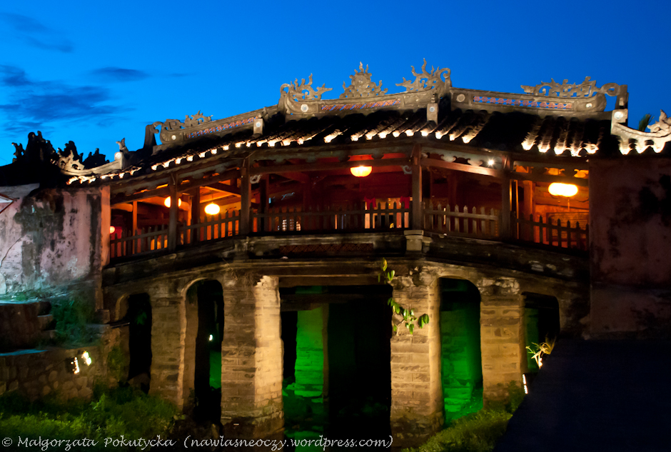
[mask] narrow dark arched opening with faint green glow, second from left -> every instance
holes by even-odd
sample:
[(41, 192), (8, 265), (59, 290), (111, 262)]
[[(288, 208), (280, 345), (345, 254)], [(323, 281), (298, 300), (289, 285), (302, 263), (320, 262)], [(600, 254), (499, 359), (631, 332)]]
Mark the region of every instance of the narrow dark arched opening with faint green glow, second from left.
[(198, 332), (193, 378), (196, 421), (221, 420), (221, 342), (223, 341), (223, 290), (218, 281), (196, 283)]

